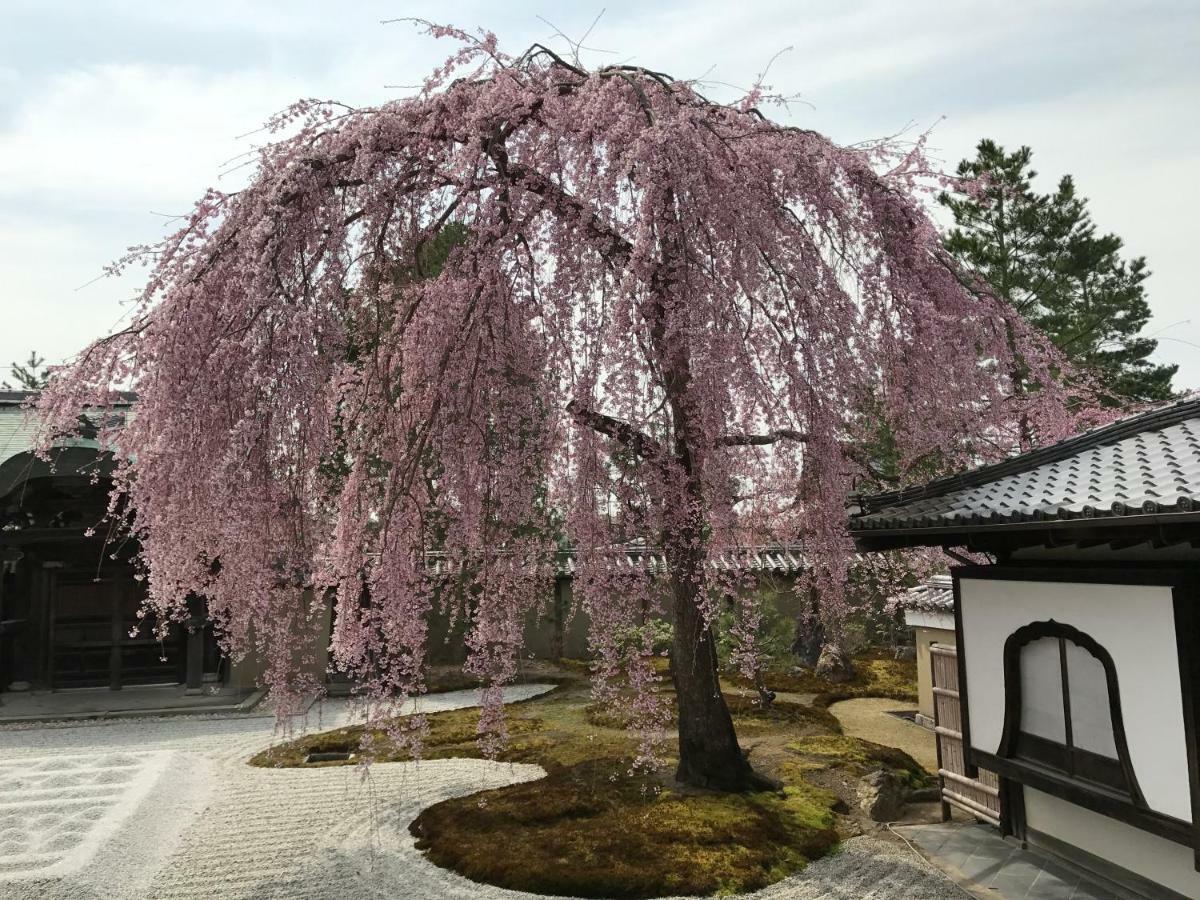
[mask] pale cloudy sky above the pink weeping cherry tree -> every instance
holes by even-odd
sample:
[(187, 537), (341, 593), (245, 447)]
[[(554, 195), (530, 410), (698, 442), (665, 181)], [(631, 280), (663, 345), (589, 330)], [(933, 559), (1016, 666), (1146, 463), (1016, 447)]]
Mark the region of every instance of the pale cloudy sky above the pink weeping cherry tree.
[(120, 322), (140, 271), (102, 266), (235, 187), (270, 113), (402, 96), (450, 50), (383, 19), (482, 25), (518, 52), (601, 11), (598, 64), (748, 85), (791, 48), (768, 83), (803, 102), (779, 115), (841, 143), (934, 127), (948, 168), (980, 137), (1028, 144), (1042, 187), (1074, 174), (1147, 257), (1147, 332), (1200, 388), (1200, 0), (0, 0), (0, 362), (65, 360)]

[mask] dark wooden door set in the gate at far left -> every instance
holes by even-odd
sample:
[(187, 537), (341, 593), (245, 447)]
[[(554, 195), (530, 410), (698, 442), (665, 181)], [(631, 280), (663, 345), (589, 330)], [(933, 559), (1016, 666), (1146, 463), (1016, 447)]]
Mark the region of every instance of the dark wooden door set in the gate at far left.
[(143, 588), (132, 575), (89, 578), (54, 575), (50, 616), (53, 688), (100, 688), (182, 680), (182, 642), (173, 626), (164, 640), (138, 611)]

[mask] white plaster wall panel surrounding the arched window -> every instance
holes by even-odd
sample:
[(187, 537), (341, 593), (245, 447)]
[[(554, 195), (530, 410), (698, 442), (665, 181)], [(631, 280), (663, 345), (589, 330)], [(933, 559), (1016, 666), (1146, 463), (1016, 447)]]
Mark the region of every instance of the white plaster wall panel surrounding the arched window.
[(992, 754), (1000, 746), (1008, 636), (1031, 622), (1073, 625), (1112, 654), (1129, 757), (1146, 804), (1192, 821), (1169, 587), (964, 577), (960, 604), (972, 746)]

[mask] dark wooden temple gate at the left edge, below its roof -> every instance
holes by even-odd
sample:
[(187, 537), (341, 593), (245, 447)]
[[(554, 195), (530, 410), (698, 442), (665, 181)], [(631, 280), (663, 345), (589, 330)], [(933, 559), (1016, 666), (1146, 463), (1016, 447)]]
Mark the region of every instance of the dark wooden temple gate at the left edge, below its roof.
[[(155, 634), (133, 541), (103, 522), (110, 461), (66, 448), (0, 463), (0, 691), (184, 684), (199, 694), (220, 653), (203, 608)], [(211, 680), (211, 678), (210, 678)]]

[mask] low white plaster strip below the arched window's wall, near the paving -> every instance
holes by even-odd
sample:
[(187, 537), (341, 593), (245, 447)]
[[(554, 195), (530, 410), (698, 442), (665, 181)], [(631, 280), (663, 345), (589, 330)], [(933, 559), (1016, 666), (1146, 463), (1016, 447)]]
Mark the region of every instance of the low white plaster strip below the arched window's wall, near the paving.
[(1025, 821), (1034, 830), (1085, 850), (1183, 896), (1200, 898), (1200, 872), (1193, 864), (1193, 851), (1182, 844), (1032, 787), (1025, 788)]

